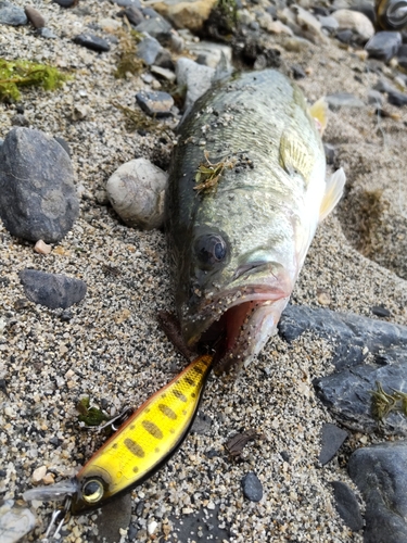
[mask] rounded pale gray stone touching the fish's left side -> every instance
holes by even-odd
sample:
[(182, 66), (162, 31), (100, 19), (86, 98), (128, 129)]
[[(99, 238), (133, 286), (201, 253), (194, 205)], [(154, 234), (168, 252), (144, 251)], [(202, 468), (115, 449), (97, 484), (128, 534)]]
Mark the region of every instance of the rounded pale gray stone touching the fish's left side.
[(163, 224), (166, 185), (165, 172), (147, 159), (136, 159), (109, 178), (106, 192), (126, 225), (150, 230)]

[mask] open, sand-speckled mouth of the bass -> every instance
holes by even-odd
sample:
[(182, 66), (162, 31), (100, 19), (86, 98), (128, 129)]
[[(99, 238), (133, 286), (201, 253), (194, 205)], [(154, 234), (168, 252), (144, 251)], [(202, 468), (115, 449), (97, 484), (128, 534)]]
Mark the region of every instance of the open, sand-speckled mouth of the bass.
[(232, 366), (240, 368), (276, 333), (291, 291), (292, 281), (287, 274), (283, 278), (272, 274), (259, 282), (231, 286), (215, 295), (206, 293), (193, 315), (182, 323), (188, 345), (215, 352), (218, 374)]

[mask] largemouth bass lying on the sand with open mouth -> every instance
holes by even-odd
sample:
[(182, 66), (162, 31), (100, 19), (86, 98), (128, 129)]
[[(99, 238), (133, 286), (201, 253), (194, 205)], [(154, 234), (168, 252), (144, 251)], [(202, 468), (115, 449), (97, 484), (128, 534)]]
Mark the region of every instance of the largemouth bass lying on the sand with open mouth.
[(181, 122), (165, 223), (186, 344), (215, 371), (247, 365), (276, 333), (318, 224), (342, 197), (326, 180), (327, 103), (275, 70), (217, 81)]

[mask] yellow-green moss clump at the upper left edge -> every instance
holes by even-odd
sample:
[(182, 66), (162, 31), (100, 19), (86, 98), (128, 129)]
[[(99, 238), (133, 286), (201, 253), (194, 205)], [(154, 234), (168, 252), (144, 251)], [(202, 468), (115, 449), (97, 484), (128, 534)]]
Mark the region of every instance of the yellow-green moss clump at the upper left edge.
[(26, 60), (7, 61), (0, 58), (0, 100), (20, 100), (20, 88), (36, 86), (44, 90), (54, 90), (69, 76), (53, 66)]

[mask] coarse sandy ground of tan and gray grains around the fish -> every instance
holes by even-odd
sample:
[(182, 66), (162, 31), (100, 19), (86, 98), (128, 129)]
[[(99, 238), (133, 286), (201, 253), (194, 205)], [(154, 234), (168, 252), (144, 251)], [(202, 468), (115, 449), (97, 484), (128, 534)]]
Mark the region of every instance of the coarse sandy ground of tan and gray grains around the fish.
[[(73, 475), (101, 444), (102, 438), (77, 427), (75, 405), (80, 396), (89, 395), (93, 405), (106, 405), (114, 414), (125, 405), (141, 404), (185, 364), (156, 323), (158, 310), (174, 308), (164, 235), (129, 229), (100, 203), (100, 191), (122, 163), (136, 156), (165, 163), (168, 147), (152, 135), (128, 132), (122, 114), (110, 104), (114, 97), (133, 106), (136, 91), (145, 88), (140, 77), (112, 76), (116, 48), (99, 55), (69, 40), (82, 25), (117, 9), (96, 0), (72, 11), (40, 0), (35, 7), (61, 39), (42, 40), (29, 27), (2, 26), (0, 55), (75, 70), (75, 79), (63, 90), (25, 90), (22, 104), (31, 127), (69, 143), (81, 209), (73, 230), (47, 257), (0, 226), (0, 378), (7, 380), (8, 391), (0, 392), (1, 469), (7, 472), (0, 491), (14, 500), (33, 485), (36, 468), (46, 466), (60, 480)], [(276, 47), (288, 65), (310, 68), (301, 81), (310, 101), (338, 91), (366, 99), (378, 78), (353, 50), (335, 42), (302, 53)], [(383, 70), (392, 72), (384, 65)], [(77, 103), (91, 109), (81, 122), (72, 121)], [(385, 109), (399, 118), (379, 123), (374, 105), (330, 115), (325, 140), (336, 147), (335, 166), (346, 171), (346, 195), (319, 228), (292, 300), (318, 306), (322, 290), (331, 310), (372, 316), (370, 307), (384, 304), (393, 321), (407, 324), (407, 274), (403, 279), (403, 262), (394, 263), (405, 254), (406, 243), (407, 114), (391, 105)], [(14, 114), (14, 106), (0, 105), (0, 137), (10, 130)], [(382, 192), (371, 215), (366, 192), (377, 189)], [(103, 265), (117, 268), (117, 274)], [(69, 310), (69, 321), (61, 318), (61, 311), (31, 303), (16, 308), (24, 298), (17, 273), (26, 267), (86, 280), (88, 294)], [(230, 527), (230, 542), (361, 542), (360, 533), (352, 533), (335, 513), (328, 482), (342, 480), (352, 487), (344, 468), (347, 454), (380, 438), (353, 435), (339, 457), (323, 468), (318, 464), (321, 426), (332, 419), (316, 399), (311, 380), (332, 371), (329, 358), (330, 345), (311, 334), (291, 346), (276, 338), (236, 382), (212, 377), (201, 407), (214, 420), (209, 434), (188, 438), (158, 475), (133, 491), (132, 523), (143, 528), (156, 519), (158, 539), (169, 515), (215, 504), (219, 523)], [(233, 463), (224, 444), (242, 428), (255, 428), (265, 439), (249, 445), (242, 462)], [(209, 451), (218, 456), (209, 459)], [(290, 463), (281, 452), (289, 454)], [(259, 503), (243, 498), (240, 481), (247, 471), (255, 471), (263, 482)], [(144, 506), (136, 515), (140, 502)], [(38, 541), (51, 507), (36, 504), (34, 510), (37, 528), (25, 541)], [(72, 519), (64, 541), (101, 541), (92, 518)], [(141, 530), (137, 541), (148, 540)]]

